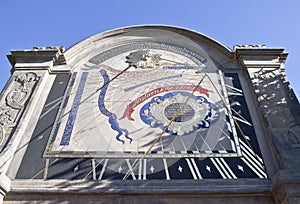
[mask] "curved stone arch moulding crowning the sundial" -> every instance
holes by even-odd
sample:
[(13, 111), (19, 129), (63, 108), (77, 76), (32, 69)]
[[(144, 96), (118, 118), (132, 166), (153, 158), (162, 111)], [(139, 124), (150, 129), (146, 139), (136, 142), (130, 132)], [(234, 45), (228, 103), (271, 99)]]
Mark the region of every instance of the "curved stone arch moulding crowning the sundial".
[[(77, 65), (98, 53), (131, 42), (160, 42), (182, 46), (212, 59), (216, 64), (231, 64), (233, 51), (220, 42), (196, 31), (166, 25), (140, 25), (123, 27), (88, 37), (65, 51), (67, 65)], [(235, 65), (236, 66), (236, 65)], [(231, 64), (231, 67), (235, 67)]]

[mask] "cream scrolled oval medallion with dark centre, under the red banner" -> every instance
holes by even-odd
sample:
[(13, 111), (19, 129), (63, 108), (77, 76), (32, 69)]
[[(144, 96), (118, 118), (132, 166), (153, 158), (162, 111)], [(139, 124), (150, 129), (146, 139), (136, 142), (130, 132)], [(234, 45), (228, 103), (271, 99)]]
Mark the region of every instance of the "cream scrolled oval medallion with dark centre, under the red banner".
[[(208, 128), (211, 118), (207, 116), (211, 114), (211, 104), (204, 98), (191, 98), (190, 100), (187, 98), (188, 96), (183, 96), (181, 93), (155, 98), (143, 114), (147, 120), (151, 121), (150, 126), (163, 125), (165, 127), (180, 109), (181, 113), (168, 127), (172, 134), (184, 135), (199, 127)], [(185, 101), (187, 101), (186, 104)]]

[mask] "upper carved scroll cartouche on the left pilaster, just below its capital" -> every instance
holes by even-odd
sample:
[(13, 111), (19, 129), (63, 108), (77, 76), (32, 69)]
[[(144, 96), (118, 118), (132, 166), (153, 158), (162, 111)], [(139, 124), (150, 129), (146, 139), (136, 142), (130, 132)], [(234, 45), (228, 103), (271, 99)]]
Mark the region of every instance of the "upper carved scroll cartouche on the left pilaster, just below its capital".
[(17, 76), (14, 89), (6, 96), (7, 105), (16, 109), (23, 108), (37, 79), (36, 74), (32, 72)]

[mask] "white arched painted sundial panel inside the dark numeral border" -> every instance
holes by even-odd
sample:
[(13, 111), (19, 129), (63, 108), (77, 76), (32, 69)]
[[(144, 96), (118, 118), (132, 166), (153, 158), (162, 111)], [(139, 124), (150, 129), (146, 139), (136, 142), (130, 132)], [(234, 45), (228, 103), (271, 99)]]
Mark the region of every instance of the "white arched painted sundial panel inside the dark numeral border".
[(130, 50), (83, 66), (46, 154), (138, 158), (151, 148), (145, 158), (239, 155), (220, 75), (188, 51)]

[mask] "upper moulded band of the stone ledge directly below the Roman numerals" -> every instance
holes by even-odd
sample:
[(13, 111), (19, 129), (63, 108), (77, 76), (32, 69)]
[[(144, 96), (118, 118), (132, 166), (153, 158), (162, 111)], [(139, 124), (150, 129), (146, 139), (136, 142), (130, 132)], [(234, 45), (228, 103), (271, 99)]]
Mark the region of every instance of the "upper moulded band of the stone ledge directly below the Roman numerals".
[[(213, 188), (211, 188), (214, 186)], [(271, 196), (271, 181), (268, 179), (239, 179), (239, 180), (152, 180), (152, 181), (66, 181), (66, 180), (14, 180), (11, 189), (14, 193), (37, 193), (47, 192), (81, 193), (81, 194), (178, 194), (185, 195), (211, 195), (226, 194), (230, 196), (254, 195)]]

